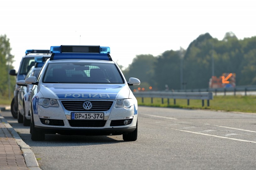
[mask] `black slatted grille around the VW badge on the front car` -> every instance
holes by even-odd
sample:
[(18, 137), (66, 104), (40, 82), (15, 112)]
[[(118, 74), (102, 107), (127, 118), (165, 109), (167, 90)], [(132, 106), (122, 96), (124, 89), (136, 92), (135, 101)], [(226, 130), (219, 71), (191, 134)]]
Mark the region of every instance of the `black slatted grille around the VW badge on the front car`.
[[(86, 101), (86, 100), (84, 100)], [(83, 108), (83, 100), (63, 100), (61, 103), (63, 104), (64, 108), (68, 111), (107, 111), (113, 104), (113, 101), (90, 101), (92, 103), (92, 108), (90, 110), (85, 110)]]

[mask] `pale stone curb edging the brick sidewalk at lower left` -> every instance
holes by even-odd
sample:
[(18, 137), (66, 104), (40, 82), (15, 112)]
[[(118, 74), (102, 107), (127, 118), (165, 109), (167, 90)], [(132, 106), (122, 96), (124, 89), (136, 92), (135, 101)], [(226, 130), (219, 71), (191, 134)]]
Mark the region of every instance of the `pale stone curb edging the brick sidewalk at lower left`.
[[(1, 108), (0, 111), (4, 111), (6, 108)], [(4, 126), (8, 129), (8, 131), (13, 136), (16, 143), (19, 145), (21, 151), (23, 152), (23, 157), (25, 159), (26, 166), (30, 170), (42, 170), (38, 162), (36, 161), (35, 155), (31, 150), (31, 147), (27, 145), (19, 136), (19, 134), (14, 130), (14, 128), (7, 122), (7, 120), (1, 116), (2, 121), (4, 122)]]

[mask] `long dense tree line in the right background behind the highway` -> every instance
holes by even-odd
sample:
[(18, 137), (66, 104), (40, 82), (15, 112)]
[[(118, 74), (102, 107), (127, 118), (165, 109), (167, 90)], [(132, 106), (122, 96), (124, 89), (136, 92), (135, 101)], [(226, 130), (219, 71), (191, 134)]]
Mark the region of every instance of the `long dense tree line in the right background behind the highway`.
[(146, 90), (208, 88), (211, 76), (222, 73), (236, 73), (236, 85), (256, 85), (256, 37), (241, 40), (228, 32), (218, 40), (205, 33), (186, 50), (136, 55), (123, 73), (139, 78)]

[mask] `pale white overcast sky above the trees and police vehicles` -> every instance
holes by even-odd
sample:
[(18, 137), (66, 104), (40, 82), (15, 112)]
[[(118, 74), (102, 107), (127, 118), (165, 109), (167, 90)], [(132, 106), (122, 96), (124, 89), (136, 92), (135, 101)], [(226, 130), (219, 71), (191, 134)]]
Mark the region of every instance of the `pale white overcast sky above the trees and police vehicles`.
[(136, 55), (187, 49), (204, 33), (256, 36), (255, 9), (253, 0), (1, 0), (0, 35), (16, 70), (26, 49), (59, 45), (108, 46), (127, 68)]

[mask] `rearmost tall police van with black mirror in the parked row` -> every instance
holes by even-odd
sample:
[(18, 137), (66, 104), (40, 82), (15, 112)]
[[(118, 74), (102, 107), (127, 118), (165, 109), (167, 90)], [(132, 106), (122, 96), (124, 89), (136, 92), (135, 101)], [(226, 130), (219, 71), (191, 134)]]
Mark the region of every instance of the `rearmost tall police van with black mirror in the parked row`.
[[(16, 75), (16, 81), (24, 80), (27, 73), (29, 72), (30, 68), (35, 65), (35, 56), (48, 56), (50, 51), (49, 50), (41, 50), (41, 49), (28, 49), (25, 52), (25, 56), (22, 57), (19, 65), (19, 70), (16, 73), (16, 70), (10, 70), (9, 75)], [(18, 118), (18, 92), (19, 92), (19, 85), (16, 84), (14, 90), (14, 98), (11, 102), (11, 113), (14, 118)]]

